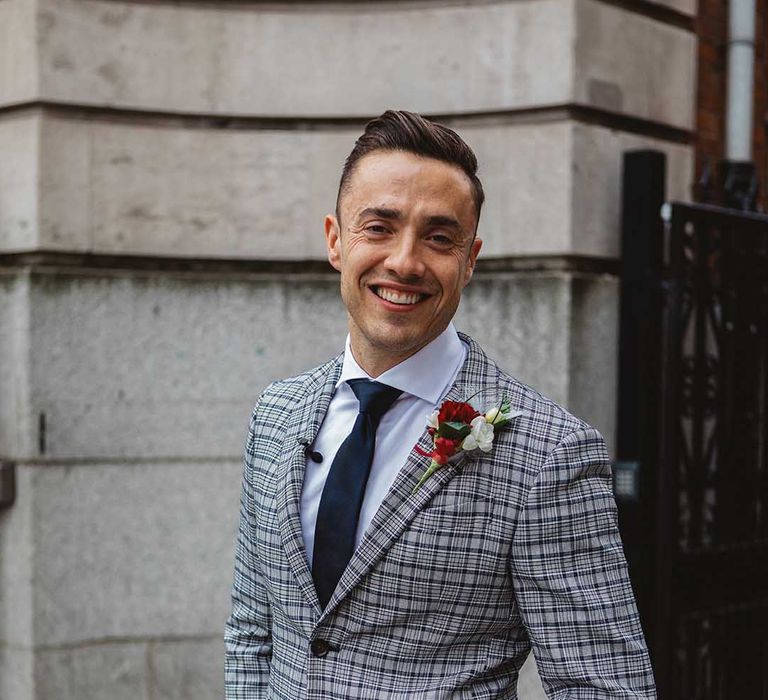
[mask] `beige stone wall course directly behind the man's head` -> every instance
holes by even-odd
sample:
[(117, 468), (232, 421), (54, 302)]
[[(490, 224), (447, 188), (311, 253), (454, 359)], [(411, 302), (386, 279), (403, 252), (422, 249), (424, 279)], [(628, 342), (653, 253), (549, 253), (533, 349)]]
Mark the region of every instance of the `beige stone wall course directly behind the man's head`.
[[(670, 197), (684, 199), (690, 188), (690, 149), (659, 138), (565, 117), (464, 119), (455, 126), (481, 163), (486, 257), (617, 257), (628, 149), (667, 154)], [(0, 142), (11, 156), (0, 162), (0, 181), (17, 184), (0, 194), (8, 202), (5, 250), (324, 260), (323, 217), (333, 209), (358, 130), (190, 129), (45, 112), (9, 117), (0, 121)], [(45, 167), (35, 199), (28, 183), (38, 162)]]

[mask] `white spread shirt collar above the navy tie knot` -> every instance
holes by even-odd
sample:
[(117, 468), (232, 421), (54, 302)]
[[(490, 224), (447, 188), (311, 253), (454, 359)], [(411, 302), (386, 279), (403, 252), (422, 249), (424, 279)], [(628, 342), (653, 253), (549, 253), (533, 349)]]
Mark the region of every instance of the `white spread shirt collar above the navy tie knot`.
[[(376, 377), (377, 382), (437, 405), (464, 364), (466, 349), (452, 323), (417, 353)], [(338, 387), (349, 379), (372, 379), (352, 356), (347, 335)]]

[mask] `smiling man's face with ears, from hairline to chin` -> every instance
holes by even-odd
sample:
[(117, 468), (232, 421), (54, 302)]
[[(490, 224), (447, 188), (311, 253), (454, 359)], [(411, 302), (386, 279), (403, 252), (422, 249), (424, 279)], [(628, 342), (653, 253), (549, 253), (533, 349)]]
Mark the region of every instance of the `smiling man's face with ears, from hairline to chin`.
[[(456, 313), (482, 241), (469, 178), (400, 151), (361, 158), (325, 220), (352, 350), (372, 376), (434, 340)], [(341, 225), (341, 228), (340, 228)]]

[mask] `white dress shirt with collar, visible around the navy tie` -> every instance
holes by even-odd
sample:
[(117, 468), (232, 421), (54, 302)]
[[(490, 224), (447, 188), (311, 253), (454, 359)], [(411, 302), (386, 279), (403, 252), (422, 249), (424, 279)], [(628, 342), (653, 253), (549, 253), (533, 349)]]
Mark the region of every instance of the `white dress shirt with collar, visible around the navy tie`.
[[(377, 382), (402, 390), (392, 408), (384, 414), (376, 431), (376, 451), (363, 496), (355, 546), (373, 520), (387, 491), (426, 427), (427, 416), (440, 404), (464, 364), (467, 349), (453, 324), (416, 354), (376, 377)], [(315, 523), (325, 480), (336, 452), (355, 424), (360, 405), (347, 381), (373, 379), (355, 362), (347, 336), (344, 365), (336, 383), (325, 420), (312, 449), (323, 456), (319, 464), (307, 458), (301, 492), (301, 528), (309, 566), (315, 547)]]

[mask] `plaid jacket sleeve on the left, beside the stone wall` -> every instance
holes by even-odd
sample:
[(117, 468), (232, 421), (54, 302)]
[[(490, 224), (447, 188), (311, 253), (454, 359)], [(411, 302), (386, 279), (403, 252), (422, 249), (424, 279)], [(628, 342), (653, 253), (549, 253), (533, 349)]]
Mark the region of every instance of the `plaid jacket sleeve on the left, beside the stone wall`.
[(245, 447), (232, 612), (224, 632), (226, 700), (266, 698), (272, 660), (272, 615), (256, 557), (254, 536), (252, 478), (257, 411), (258, 405), (251, 417)]

